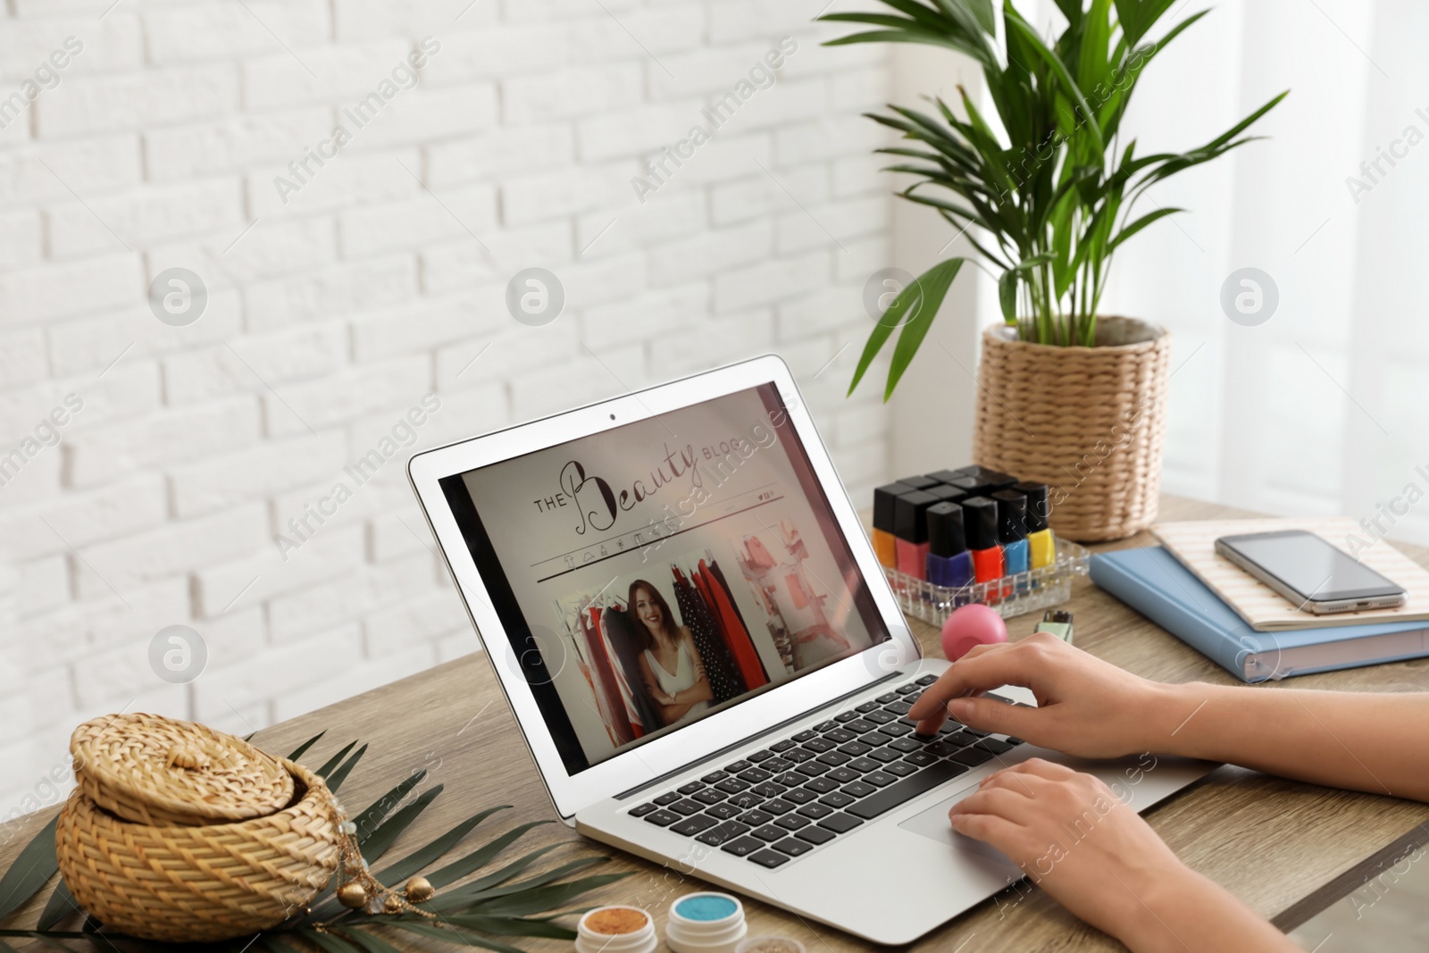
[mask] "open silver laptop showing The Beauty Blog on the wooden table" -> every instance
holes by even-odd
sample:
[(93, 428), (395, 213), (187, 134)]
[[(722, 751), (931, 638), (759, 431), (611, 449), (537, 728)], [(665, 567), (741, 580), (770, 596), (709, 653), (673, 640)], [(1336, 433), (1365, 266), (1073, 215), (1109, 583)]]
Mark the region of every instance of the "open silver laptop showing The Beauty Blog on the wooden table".
[(986, 774), (1046, 757), (1143, 810), (1212, 770), (919, 737), (906, 713), (949, 663), (920, 657), (779, 357), (409, 476), (562, 820), (680, 876), (907, 943), (1027, 873), (947, 823)]

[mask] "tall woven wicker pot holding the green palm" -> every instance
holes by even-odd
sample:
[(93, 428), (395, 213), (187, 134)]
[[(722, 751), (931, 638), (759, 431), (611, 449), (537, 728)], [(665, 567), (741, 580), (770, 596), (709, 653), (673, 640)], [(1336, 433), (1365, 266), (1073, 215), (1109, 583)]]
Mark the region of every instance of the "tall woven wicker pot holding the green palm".
[(973, 460), (1046, 483), (1052, 527), (1079, 543), (1123, 539), (1156, 519), (1170, 334), (1097, 319), (1096, 347), (983, 333)]

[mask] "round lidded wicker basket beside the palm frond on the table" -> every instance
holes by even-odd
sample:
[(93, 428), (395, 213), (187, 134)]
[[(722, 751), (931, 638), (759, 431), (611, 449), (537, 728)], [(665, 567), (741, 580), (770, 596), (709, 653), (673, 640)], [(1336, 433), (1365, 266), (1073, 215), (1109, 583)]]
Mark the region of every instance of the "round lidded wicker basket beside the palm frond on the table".
[(277, 926), (322, 890), (340, 850), (323, 779), (233, 736), (110, 714), (70, 739), (79, 787), (56, 850), (107, 929), (207, 942)]

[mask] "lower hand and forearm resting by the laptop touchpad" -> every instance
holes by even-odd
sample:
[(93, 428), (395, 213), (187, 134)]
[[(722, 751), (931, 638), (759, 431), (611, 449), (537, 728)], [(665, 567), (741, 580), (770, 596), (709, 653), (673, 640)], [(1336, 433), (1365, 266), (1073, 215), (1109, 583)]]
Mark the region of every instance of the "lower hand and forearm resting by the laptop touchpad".
[(1180, 863), (1092, 774), (1030, 759), (989, 774), (949, 812), (953, 830), (1132, 950), (1293, 950), (1253, 910)]

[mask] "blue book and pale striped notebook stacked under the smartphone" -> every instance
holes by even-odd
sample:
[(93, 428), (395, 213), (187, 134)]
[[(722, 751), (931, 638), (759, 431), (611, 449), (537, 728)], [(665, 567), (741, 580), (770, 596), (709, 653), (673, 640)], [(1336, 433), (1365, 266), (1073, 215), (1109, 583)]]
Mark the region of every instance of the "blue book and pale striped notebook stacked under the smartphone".
[[(1405, 587), (1406, 606), (1339, 616), (1298, 612), (1202, 546), (1205, 540), (1213, 544), (1218, 536), (1268, 529), (1309, 529), (1338, 543), (1336, 527), (1285, 520), (1273, 526), (1233, 520), (1195, 529), (1167, 523), (1155, 532), (1167, 546), (1179, 549), (1099, 553), (1092, 557), (1092, 580), (1242, 682), (1429, 656), (1429, 573), (1388, 543), (1375, 546), (1379, 552), (1373, 563), (1362, 559)], [(1208, 582), (1216, 584), (1216, 592)]]

